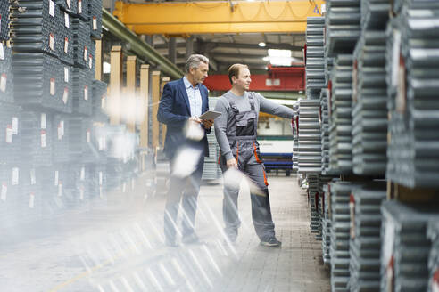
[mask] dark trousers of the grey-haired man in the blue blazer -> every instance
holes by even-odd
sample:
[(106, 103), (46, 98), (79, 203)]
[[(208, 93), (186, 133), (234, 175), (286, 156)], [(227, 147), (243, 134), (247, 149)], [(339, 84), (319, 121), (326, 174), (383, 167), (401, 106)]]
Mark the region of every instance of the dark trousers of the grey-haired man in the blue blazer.
[(184, 178), (172, 175), (175, 167), (174, 158), (171, 159), (170, 163), (170, 190), (164, 213), (165, 238), (170, 242), (176, 240), (178, 232), (177, 218), (180, 201), (182, 207), (182, 232), (180, 235), (186, 237), (194, 232), (197, 198), (204, 166), (204, 151), (202, 151), (195, 172)]

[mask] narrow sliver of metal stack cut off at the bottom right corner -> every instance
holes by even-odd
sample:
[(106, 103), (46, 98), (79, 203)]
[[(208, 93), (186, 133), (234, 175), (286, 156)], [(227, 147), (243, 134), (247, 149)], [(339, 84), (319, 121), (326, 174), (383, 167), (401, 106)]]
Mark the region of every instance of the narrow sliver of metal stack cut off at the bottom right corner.
[(427, 238), (431, 242), (430, 255), (428, 255), (428, 292), (434, 292), (439, 285), (439, 223), (429, 222), (427, 226)]

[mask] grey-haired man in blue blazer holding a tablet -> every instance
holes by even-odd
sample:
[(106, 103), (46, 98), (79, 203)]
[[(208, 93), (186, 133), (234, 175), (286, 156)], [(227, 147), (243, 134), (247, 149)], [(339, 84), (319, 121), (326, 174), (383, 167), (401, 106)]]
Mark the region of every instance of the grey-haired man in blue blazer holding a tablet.
[[(195, 233), (195, 213), (197, 197), (203, 174), (204, 156), (209, 156), (206, 133), (211, 132), (212, 120), (198, 118), (209, 110), (208, 90), (203, 85), (209, 70), (209, 59), (200, 54), (189, 56), (186, 61), (186, 75), (164, 85), (157, 118), (166, 124), (164, 152), (170, 158), (170, 189), (167, 194), (164, 233), (165, 244), (178, 247), (177, 217), (180, 201), (183, 209), (182, 239), (185, 244), (197, 243)], [(185, 134), (187, 123), (193, 123), (203, 129), (201, 140), (191, 140)], [(201, 153), (195, 161), (195, 171), (186, 176), (174, 174), (177, 166), (178, 150), (191, 148)]]

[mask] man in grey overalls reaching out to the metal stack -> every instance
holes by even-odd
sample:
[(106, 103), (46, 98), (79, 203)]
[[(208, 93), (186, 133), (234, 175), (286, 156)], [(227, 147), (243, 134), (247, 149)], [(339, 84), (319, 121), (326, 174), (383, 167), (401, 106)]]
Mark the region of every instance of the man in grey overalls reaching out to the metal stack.
[[(215, 118), (215, 135), (219, 143), (221, 171), (226, 173), (236, 168), (248, 176), (261, 193), (252, 192), (253, 225), (266, 247), (280, 247), (275, 236), (275, 225), (269, 207), (267, 175), (261, 158), (259, 143), (256, 141), (258, 115), (260, 110), (282, 118), (293, 118), (294, 111), (265, 99), (260, 93), (248, 92), (250, 70), (246, 65), (234, 64), (228, 69), (231, 90), (217, 101), (215, 110), (222, 113)], [(241, 224), (237, 211), (239, 186), (224, 183), (223, 219), (229, 242), (234, 243)]]

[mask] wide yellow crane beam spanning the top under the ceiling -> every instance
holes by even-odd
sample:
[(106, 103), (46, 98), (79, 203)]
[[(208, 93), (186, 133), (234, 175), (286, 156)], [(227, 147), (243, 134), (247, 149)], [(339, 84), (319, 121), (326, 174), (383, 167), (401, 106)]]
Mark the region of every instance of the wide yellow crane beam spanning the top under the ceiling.
[(322, 0), (127, 4), (113, 12), (137, 34), (303, 33)]

